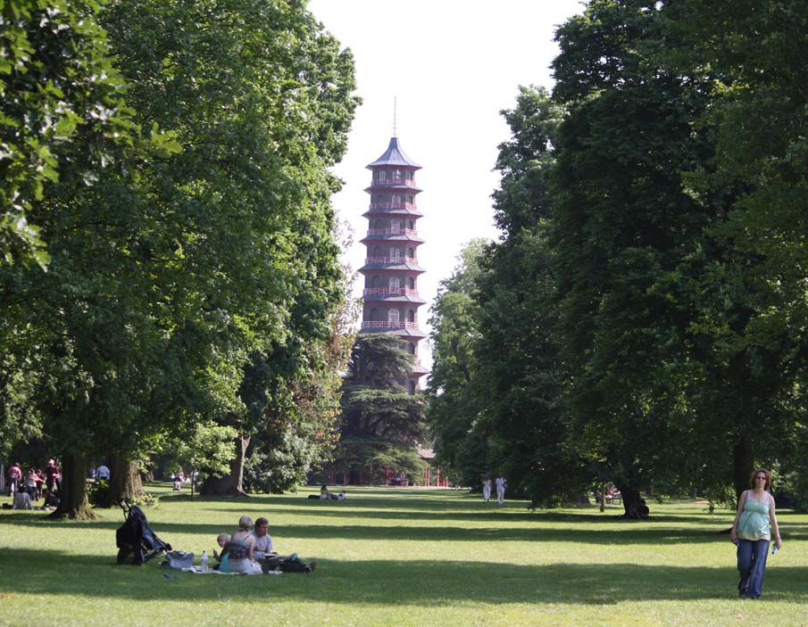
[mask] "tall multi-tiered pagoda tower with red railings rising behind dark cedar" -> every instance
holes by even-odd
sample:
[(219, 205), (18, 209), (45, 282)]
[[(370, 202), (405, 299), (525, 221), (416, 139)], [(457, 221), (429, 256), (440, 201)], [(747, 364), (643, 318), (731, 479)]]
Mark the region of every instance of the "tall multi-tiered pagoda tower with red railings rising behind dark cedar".
[(371, 207), (362, 214), (368, 219), (368, 233), (362, 239), (367, 255), (359, 269), (364, 277), (360, 333), (401, 338), (402, 348), (415, 356), (406, 382), (407, 392), (414, 394), (419, 378), (427, 374), (418, 359), (418, 342), (426, 337), (418, 327), (418, 308), (426, 303), (418, 295), (418, 277), (424, 269), (418, 265), (423, 240), (416, 227), (421, 213), (415, 196), (421, 190), (415, 186), (415, 172), (421, 166), (404, 154), (393, 136), (387, 151), (368, 169), (372, 179), (365, 192), (371, 194)]

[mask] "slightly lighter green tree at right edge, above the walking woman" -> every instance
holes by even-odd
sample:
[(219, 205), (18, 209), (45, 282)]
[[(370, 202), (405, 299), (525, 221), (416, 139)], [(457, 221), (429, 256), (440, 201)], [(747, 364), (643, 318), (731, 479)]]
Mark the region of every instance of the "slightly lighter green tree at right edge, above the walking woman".
[[(791, 434), (804, 424), (806, 70), (803, 4), (739, 2), (705, 11), (670, 3), (667, 27), (686, 45), (665, 61), (709, 78), (698, 128), (712, 159), (688, 179), (701, 202), (721, 199), (707, 232), (712, 258), (689, 294), (713, 351), (711, 415), (729, 433), (737, 493), (755, 462), (803, 457)], [(750, 46), (754, 45), (754, 49)], [(763, 434), (772, 434), (767, 437)]]

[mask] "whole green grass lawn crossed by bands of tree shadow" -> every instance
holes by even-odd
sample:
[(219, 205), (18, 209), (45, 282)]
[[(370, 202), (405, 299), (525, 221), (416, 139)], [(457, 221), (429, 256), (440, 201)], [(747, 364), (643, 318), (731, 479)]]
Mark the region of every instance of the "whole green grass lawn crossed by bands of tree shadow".
[[(238, 516), (270, 520), (281, 553), (312, 574), (195, 575), (162, 559), (116, 566), (120, 510), (91, 523), (0, 510), (0, 625), (808, 625), (808, 516), (779, 513), (784, 548), (763, 598), (738, 599), (732, 513), (703, 503), (530, 512), (461, 491), (351, 489), (195, 499), (162, 487), (146, 510), (175, 549), (212, 552)], [(9, 502), (9, 499), (0, 499)]]

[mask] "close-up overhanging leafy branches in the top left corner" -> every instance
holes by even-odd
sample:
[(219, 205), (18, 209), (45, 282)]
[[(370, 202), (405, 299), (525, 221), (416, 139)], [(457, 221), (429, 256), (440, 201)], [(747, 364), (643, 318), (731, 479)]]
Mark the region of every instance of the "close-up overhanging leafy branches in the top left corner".
[[(65, 170), (87, 185), (137, 142), (125, 85), (98, 24), (103, 3), (0, 4), (0, 264), (46, 269), (41, 212)], [(87, 144), (74, 161), (71, 144)]]

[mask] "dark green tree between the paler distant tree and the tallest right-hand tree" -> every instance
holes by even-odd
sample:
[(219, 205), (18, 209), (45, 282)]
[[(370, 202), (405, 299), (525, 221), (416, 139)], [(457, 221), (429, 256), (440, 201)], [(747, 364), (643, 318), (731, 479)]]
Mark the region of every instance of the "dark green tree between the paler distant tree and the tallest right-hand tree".
[(586, 485), (562, 403), (567, 370), (555, 302), (549, 177), (563, 109), (546, 91), (521, 88), (504, 111), (512, 130), (500, 145), (494, 194), (502, 240), (491, 247), (479, 286), (478, 359), (484, 410), (478, 429), (491, 442), (487, 471), (534, 503), (570, 502)]

